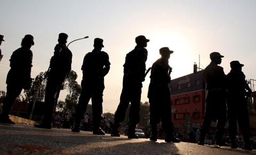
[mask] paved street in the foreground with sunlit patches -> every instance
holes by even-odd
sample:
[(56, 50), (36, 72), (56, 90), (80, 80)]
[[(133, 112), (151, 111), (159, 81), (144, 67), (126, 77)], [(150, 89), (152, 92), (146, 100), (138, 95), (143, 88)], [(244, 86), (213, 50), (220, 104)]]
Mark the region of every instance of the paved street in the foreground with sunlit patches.
[(72, 133), (70, 129), (39, 129), (24, 124), (0, 124), (0, 141), (0, 154), (256, 154), (256, 150), (130, 140), (126, 136), (95, 136), (91, 132)]

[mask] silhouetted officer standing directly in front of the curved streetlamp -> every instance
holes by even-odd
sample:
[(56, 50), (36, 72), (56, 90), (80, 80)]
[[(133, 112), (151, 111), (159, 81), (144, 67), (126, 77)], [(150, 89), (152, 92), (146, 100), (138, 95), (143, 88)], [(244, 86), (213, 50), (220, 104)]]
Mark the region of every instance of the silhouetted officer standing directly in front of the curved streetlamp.
[(49, 72), (47, 72), (47, 84), (45, 88), (44, 99), (44, 119), (43, 123), (35, 125), (39, 128), (52, 128), (52, 115), (55, 107), (55, 102), (58, 101), (60, 90), (63, 89), (65, 80), (69, 75), (72, 63), (72, 53), (66, 46), (68, 35), (65, 33), (59, 34), (59, 39), (54, 47), (54, 55), (50, 61)]

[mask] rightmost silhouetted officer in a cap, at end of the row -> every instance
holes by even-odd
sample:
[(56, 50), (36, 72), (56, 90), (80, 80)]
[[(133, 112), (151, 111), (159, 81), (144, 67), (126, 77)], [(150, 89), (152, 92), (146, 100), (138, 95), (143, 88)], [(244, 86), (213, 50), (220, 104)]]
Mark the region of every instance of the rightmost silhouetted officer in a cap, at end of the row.
[(250, 123), (247, 109), (247, 97), (251, 96), (245, 75), (242, 72), (244, 65), (239, 61), (231, 61), (231, 70), (227, 75), (227, 105), (228, 105), (228, 131), (231, 148), (236, 149), (237, 121), (239, 129), (244, 137), (244, 149), (252, 150), (250, 144)]

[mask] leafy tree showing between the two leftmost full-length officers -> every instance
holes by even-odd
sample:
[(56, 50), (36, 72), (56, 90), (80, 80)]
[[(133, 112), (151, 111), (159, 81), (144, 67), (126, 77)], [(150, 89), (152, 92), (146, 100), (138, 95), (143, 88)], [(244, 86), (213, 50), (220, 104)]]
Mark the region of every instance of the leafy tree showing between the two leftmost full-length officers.
[(36, 95), (37, 89), (37, 101), (41, 102), (44, 100), (45, 95), (45, 86), (46, 86), (46, 79), (45, 77), (46, 72), (40, 72), (39, 75), (36, 76), (35, 79), (32, 80), (30, 88), (24, 91), (24, 96), (22, 96), (22, 101), (27, 103), (32, 103), (34, 101), (34, 97)]

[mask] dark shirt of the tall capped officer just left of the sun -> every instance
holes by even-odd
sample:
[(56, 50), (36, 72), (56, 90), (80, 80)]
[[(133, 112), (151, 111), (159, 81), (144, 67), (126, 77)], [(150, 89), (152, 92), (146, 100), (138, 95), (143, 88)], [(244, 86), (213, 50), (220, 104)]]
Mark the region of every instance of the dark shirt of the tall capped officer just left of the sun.
[(135, 46), (134, 50), (126, 54), (124, 63), (124, 79), (132, 83), (141, 83), (145, 80), (146, 48)]

